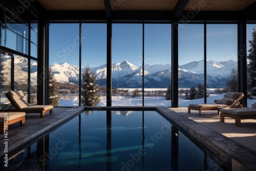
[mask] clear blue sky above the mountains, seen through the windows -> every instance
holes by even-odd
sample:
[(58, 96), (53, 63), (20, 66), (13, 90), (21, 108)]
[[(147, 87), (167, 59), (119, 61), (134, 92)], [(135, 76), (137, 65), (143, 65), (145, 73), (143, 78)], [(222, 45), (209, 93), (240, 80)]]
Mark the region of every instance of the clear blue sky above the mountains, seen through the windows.
[[(145, 63), (170, 63), (169, 24), (145, 24)], [(112, 63), (127, 60), (142, 65), (142, 24), (113, 24)], [(252, 28), (247, 25), (247, 37)], [(106, 24), (82, 24), (82, 66), (97, 67), (106, 63)], [(247, 45), (247, 49), (248, 49)], [(79, 64), (79, 24), (50, 24), (50, 65), (68, 62)], [(207, 25), (207, 59), (237, 60), (237, 25)], [(179, 25), (179, 65), (203, 60), (203, 25)]]

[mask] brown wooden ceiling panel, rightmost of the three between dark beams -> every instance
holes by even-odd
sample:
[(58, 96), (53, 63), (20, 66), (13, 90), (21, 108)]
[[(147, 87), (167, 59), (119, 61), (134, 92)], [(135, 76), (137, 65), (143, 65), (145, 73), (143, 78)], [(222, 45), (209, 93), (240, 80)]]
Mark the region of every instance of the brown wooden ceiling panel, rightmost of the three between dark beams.
[(190, 0), (184, 11), (241, 11), (255, 0)]

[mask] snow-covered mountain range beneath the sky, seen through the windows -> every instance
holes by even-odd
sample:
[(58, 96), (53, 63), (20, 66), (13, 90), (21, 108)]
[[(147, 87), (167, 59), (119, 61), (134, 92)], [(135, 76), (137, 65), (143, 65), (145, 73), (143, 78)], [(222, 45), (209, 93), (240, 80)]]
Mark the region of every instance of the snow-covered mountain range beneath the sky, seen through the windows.
[[(20, 70), (18, 78), (27, 78), (28, 61), (23, 57), (16, 57), (15, 68)], [(4, 66), (10, 67), (10, 59), (4, 58)], [(36, 63), (31, 64), (31, 70), (35, 71)], [(79, 67), (69, 65), (69, 63), (55, 63), (50, 66), (58, 82), (78, 84)], [(232, 68), (237, 68), (237, 61), (207, 61), (207, 87), (225, 88), (227, 77)], [(100, 86), (106, 86), (106, 65), (91, 68)], [(82, 72), (84, 68), (82, 67)], [(204, 82), (203, 60), (193, 61), (179, 66), (179, 88), (190, 88), (198, 86), (198, 83)], [(24, 75), (24, 76), (23, 76)], [(144, 86), (145, 88), (167, 88), (171, 82), (171, 66), (162, 65), (144, 65)], [(32, 72), (31, 78), (36, 77), (36, 72)], [(112, 87), (114, 88), (141, 88), (142, 87), (142, 66), (136, 67), (129, 61), (114, 63), (112, 65)]]

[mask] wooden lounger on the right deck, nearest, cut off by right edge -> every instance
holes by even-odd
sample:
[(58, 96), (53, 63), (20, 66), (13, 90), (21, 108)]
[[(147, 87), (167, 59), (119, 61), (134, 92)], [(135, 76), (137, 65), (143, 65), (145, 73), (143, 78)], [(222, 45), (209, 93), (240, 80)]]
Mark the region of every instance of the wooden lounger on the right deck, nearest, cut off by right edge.
[(225, 117), (235, 119), (235, 125), (241, 127), (241, 119), (256, 119), (256, 103), (252, 108), (221, 109), (220, 121), (224, 122)]

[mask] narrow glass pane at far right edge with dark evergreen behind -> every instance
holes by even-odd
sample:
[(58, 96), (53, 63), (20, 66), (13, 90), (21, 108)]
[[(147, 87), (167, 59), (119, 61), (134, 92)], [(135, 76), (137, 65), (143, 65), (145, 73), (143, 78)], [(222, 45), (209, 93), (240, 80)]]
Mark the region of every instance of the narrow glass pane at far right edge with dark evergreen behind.
[[(246, 25), (246, 32), (247, 32), (247, 36), (246, 36), (246, 40), (247, 40), (247, 106), (248, 108), (251, 108), (251, 105), (255, 102), (255, 92), (253, 91), (254, 87), (255, 87), (255, 79), (253, 74), (250, 71), (250, 68), (255, 68), (255, 62), (253, 60), (253, 58), (255, 58), (255, 54), (253, 56), (253, 52), (255, 53), (255, 47), (253, 47), (255, 45), (255, 30), (256, 29), (256, 24), (247, 24)], [(254, 34), (253, 34), (254, 33)], [(254, 35), (254, 36), (253, 36)], [(249, 42), (250, 41), (250, 42)], [(252, 46), (253, 45), (253, 46)]]

